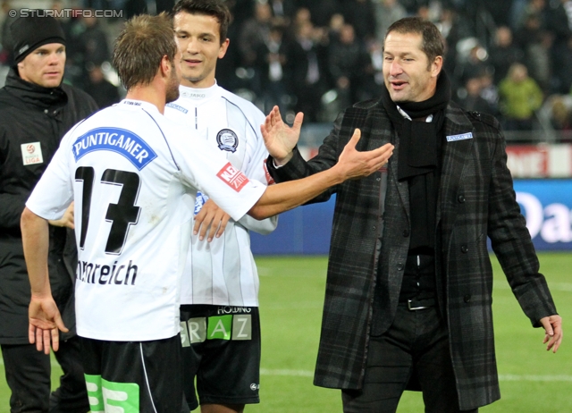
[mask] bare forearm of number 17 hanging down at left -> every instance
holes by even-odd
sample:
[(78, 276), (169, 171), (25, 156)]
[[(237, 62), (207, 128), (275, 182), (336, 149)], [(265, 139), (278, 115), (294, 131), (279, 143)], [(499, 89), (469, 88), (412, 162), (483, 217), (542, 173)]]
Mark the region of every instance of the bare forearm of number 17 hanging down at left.
[(21, 239), (32, 295), (51, 294), (47, 275), (48, 224), (44, 218), (31, 212), (28, 207), (24, 208), (21, 215)]

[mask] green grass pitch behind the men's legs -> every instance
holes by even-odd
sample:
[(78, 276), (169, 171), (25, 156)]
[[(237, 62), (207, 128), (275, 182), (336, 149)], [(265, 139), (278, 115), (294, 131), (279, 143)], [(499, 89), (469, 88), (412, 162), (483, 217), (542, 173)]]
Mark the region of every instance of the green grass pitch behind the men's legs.
[[(572, 254), (539, 255), (565, 328), (572, 318)], [(483, 413), (572, 412), (572, 350), (568, 337), (557, 354), (547, 352), (543, 332), (531, 327), (501, 268), (492, 258), (494, 330), (501, 400)], [(312, 375), (324, 302), (325, 257), (257, 257), (262, 319), (262, 374), (258, 405), (264, 413), (341, 412), (337, 390), (315, 387)], [(1, 363), (1, 360), (0, 360)], [(61, 374), (54, 367), (53, 383)], [(10, 392), (0, 365), (0, 413), (8, 412)], [(198, 411), (198, 410), (196, 410)], [(421, 393), (406, 392), (399, 413), (423, 411)]]

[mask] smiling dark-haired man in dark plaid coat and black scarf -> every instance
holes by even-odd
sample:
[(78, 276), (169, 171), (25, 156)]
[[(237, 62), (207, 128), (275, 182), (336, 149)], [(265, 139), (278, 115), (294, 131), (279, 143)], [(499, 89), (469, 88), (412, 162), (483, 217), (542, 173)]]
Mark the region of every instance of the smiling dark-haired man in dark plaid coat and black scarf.
[(315, 158), (296, 146), (277, 108), (262, 126), (276, 181), (324, 171), (358, 128), (358, 150), (395, 145), (387, 170), (335, 193), (324, 316), (314, 383), (339, 388), (345, 412), (395, 411), (422, 390), (426, 411), (476, 411), (500, 398), (487, 237), (547, 350), (561, 318), (520, 214), (505, 142), (492, 116), (450, 102), (433, 23), (395, 22), (378, 101), (346, 109)]

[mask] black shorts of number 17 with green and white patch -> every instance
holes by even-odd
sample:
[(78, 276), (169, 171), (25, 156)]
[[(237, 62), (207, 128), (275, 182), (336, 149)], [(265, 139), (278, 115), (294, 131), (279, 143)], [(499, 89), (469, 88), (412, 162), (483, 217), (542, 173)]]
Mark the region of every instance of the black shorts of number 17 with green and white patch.
[(81, 361), (91, 411), (111, 406), (124, 413), (189, 411), (182, 390), (179, 334), (154, 341), (81, 338)]

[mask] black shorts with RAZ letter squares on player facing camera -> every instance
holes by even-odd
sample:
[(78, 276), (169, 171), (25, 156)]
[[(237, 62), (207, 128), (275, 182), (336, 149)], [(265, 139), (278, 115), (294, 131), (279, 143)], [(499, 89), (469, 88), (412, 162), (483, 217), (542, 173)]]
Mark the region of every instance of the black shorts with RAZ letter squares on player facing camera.
[(184, 390), (190, 409), (197, 409), (198, 400), (200, 404), (260, 401), (257, 307), (182, 305), (181, 343)]

